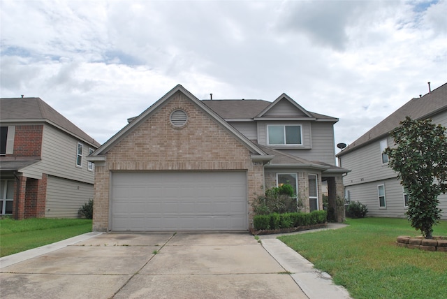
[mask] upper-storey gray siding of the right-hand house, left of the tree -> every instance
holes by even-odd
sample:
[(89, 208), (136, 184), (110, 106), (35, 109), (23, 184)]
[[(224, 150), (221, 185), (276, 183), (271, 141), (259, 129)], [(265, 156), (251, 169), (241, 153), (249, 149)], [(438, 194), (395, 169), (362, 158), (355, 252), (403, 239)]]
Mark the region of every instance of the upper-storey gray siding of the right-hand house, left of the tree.
[[(340, 166), (351, 169), (351, 172), (344, 177), (345, 186), (396, 177), (396, 173), (388, 167), (388, 163), (382, 163), (381, 140), (383, 138), (340, 157)], [(393, 140), (388, 138), (388, 146), (390, 145), (393, 145)]]

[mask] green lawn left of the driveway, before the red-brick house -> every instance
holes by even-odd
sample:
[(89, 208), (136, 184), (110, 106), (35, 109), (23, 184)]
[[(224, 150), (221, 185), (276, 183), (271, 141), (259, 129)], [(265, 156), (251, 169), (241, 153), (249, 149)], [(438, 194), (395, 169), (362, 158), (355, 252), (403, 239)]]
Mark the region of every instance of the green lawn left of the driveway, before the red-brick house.
[(0, 256), (8, 256), (89, 232), (89, 219), (1, 219)]

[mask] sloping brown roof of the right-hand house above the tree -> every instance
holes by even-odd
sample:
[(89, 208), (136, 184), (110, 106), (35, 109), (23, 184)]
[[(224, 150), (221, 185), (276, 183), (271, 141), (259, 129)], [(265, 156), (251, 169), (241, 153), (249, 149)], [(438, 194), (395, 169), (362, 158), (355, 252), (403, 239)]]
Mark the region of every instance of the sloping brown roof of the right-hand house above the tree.
[(360, 136), (356, 141), (339, 152), (337, 156), (343, 156), (379, 138), (384, 138), (393, 131), (406, 116), (412, 119), (425, 119), (447, 110), (447, 83), (420, 98), (413, 98), (390, 116), (383, 119), (372, 129)]

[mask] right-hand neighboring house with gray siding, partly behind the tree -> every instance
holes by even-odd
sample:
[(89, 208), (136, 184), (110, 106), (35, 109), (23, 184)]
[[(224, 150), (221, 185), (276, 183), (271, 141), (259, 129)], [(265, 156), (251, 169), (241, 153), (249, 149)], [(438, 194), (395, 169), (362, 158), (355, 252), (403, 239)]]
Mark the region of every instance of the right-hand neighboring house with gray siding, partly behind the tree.
[[(388, 156), (383, 150), (394, 145), (390, 131), (406, 116), (430, 118), (435, 124), (447, 126), (447, 83), (411, 99), (337, 154), (339, 166), (352, 170), (344, 177), (346, 198), (367, 205), (369, 216), (405, 217), (408, 195), (394, 170), (388, 167)], [(447, 194), (438, 199), (443, 210), (441, 219), (447, 219)]]

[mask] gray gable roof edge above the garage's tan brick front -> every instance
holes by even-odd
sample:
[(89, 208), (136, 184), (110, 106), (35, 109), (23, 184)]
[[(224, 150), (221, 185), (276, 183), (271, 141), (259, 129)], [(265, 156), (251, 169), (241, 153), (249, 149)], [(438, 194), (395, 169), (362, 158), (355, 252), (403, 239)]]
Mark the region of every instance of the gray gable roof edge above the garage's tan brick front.
[[(117, 143), (119, 143), (120, 140), (122, 140), (124, 137), (126, 137), (134, 128), (139, 126), (142, 122), (147, 119), (147, 117), (150, 117), (153, 112), (155, 112), (163, 103), (168, 101), (171, 96), (173, 96), (177, 92), (182, 92), (190, 101), (198, 105), (198, 108), (203, 110), (205, 113), (207, 113), (212, 119), (214, 119), (216, 122), (221, 124), (224, 128), (226, 128), (235, 138), (240, 140), (242, 144), (244, 144), (247, 148), (251, 150), (251, 152), (254, 154), (252, 159), (259, 159), (265, 157), (265, 160), (272, 159), (272, 156), (268, 156), (268, 154), (265, 154), (261, 148), (259, 148), (254, 143), (251, 143), (250, 140), (248, 140), (242, 133), (237, 131), (233, 128), (233, 126), (230, 126), (225, 120), (223, 120), (219, 115), (217, 115), (216, 112), (211, 110), (207, 107), (207, 105), (203, 104), (203, 101), (200, 101), (196, 98), (196, 96), (193, 96), (191, 92), (186, 90), (182, 85), (177, 85), (173, 89), (170, 90), (167, 94), (161, 97), (158, 101), (156, 101), (153, 105), (151, 105), (149, 108), (147, 108), (145, 111), (143, 111), (138, 117), (135, 117), (129, 124), (124, 126), (123, 129), (121, 129), (118, 133), (115, 134), (115, 136), (112, 136), (109, 140), (107, 140), (101, 147), (99, 147), (91, 156), (89, 157), (89, 161), (101, 161), (105, 159), (105, 154), (114, 147)], [(97, 156), (98, 158), (95, 158)]]

